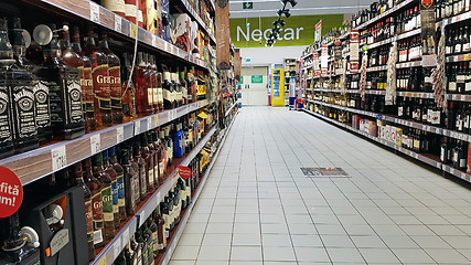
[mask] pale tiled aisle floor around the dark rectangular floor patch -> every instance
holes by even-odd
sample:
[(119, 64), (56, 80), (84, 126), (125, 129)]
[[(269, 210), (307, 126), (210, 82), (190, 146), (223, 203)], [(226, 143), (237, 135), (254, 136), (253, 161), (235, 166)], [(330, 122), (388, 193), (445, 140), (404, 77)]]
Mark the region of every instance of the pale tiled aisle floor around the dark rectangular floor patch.
[(467, 188), (308, 114), (246, 107), (171, 265), (471, 264), (470, 235)]

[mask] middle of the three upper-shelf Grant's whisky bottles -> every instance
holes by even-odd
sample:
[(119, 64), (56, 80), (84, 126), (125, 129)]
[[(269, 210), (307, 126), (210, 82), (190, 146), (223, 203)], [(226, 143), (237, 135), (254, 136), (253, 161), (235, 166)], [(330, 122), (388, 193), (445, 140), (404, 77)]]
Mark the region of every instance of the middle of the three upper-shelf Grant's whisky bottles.
[(108, 56), (95, 44), (95, 32), (88, 28), (87, 36), (84, 38), (84, 52), (92, 63), (92, 78), (94, 87), (94, 107), (97, 126), (109, 126), (111, 119), (111, 92), (108, 81)]

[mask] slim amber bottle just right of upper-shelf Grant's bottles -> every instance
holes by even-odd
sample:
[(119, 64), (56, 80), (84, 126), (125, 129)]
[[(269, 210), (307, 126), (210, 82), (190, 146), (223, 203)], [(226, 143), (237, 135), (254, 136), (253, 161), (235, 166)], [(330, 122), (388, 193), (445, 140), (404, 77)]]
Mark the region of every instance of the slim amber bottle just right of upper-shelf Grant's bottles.
[(122, 54), (125, 59), (125, 67), (121, 67), (122, 70), (122, 114), (124, 114), (124, 121), (130, 121), (135, 118), (137, 118), (137, 108), (136, 108), (136, 87), (132, 83), (130, 75), (131, 72), (131, 59), (130, 54), (124, 53)]

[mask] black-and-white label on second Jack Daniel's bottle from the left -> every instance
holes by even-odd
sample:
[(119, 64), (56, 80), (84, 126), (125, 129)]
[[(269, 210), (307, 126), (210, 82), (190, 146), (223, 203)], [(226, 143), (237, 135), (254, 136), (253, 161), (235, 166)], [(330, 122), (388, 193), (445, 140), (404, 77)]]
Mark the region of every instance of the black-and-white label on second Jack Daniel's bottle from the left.
[(38, 135), (34, 117), (34, 93), (31, 84), (12, 84), (13, 119), (17, 123), (18, 138), (28, 138)]

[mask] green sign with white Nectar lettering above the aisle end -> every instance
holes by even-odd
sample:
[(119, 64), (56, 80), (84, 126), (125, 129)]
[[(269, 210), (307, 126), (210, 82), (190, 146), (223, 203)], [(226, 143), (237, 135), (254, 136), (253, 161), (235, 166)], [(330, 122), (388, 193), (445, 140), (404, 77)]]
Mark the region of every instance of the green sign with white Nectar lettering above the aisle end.
[[(231, 19), (231, 39), (237, 47), (265, 46), (277, 17)], [(310, 45), (314, 41), (314, 25), (322, 20), (322, 32), (340, 26), (343, 14), (291, 15), (283, 18), (282, 28), (275, 46)], [(247, 26), (248, 24), (248, 26)]]

